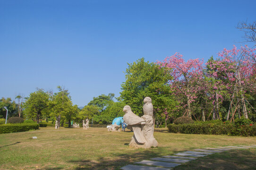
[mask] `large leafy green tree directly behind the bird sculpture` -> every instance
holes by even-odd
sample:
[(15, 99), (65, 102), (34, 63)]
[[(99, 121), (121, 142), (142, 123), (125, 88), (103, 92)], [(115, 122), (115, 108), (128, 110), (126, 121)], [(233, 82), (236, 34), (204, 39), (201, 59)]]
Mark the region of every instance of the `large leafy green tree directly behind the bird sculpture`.
[(150, 97), (154, 105), (154, 114), (169, 118), (171, 111), (175, 109), (175, 101), (168, 85), (171, 77), (170, 68), (160, 68), (154, 63), (145, 62), (144, 58), (128, 64), (126, 69), (126, 82), (121, 85), (123, 90), (120, 97), (129, 105), (132, 111), (143, 115), (143, 100)]

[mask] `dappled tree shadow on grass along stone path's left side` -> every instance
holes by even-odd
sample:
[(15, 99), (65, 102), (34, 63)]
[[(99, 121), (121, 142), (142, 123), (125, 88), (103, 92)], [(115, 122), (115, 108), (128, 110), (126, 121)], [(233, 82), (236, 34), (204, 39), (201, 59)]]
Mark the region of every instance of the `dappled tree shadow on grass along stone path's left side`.
[(95, 160), (70, 160), (70, 163), (77, 165), (74, 170), (120, 170), (121, 167), (128, 164), (150, 159), (162, 155), (154, 153), (154, 149), (139, 151), (137, 153), (115, 154), (118, 159), (100, 157)]

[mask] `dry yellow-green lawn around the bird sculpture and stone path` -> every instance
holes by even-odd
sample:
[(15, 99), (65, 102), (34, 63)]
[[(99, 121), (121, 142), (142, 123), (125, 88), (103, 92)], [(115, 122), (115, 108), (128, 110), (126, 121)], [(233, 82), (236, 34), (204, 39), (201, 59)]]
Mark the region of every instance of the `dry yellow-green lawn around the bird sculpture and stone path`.
[[(1, 170), (118, 170), (144, 159), (196, 148), (256, 144), (256, 137), (185, 135), (155, 129), (157, 148), (128, 146), (132, 132), (107, 128), (40, 127), (39, 130), (0, 134)], [(37, 139), (32, 139), (37, 136)], [(190, 161), (175, 170), (256, 170), (256, 149), (216, 153)]]

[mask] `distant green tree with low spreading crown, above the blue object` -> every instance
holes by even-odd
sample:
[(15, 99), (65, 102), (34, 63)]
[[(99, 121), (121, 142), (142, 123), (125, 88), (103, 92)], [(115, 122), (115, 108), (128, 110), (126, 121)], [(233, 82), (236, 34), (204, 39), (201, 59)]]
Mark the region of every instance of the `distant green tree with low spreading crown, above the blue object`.
[(99, 108), (99, 111), (105, 110), (111, 102), (113, 102), (115, 94), (109, 93), (108, 95), (102, 94), (98, 97), (94, 97), (92, 101), (88, 103), (88, 105), (97, 106)]

